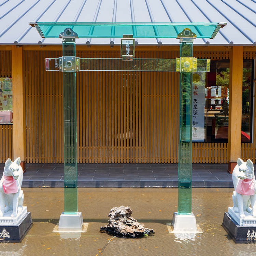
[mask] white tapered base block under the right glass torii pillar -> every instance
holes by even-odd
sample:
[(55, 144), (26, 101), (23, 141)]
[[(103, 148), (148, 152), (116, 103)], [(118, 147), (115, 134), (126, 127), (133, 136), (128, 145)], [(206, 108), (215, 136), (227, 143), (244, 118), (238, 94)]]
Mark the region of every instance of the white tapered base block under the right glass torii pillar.
[(174, 212), (172, 223), (166, 225), (169, 233), (174, 233), (177, 238), (193, 239), (196, 233), (202, 233), (201, 228), (196, 223), (194, 213), (191, 213), (191, 215), (179, 215), (177, 212)]

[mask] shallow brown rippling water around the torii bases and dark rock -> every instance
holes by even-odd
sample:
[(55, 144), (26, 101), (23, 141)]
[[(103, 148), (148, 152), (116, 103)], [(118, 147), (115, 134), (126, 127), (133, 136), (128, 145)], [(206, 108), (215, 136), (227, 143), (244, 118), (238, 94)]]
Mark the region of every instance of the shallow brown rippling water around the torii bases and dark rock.
[[(256, 244), (235, 244), (221, 224), (224, 212), (232, 206), (232, 188), (192, 188), (192, 211), (203, 233), (195, 238), (176, 237), (166, 224), (177, 212), (177, 188), (78, 188), (78, 209), (89, 223), (80, 238), (62, 238), (53, 233), (64, 208), (63, 188), (23, 188), (33, 226), (21, 243), (1, 243), (0, 256), (120, 256), (120, 255), (196, 255), (253, 256)], [(153, 237), (112, 238), (100, 233), (108, 223), (111, 208), (131, 207), (133, 217), (155, 231)], [(179, 236), (180, 234), (178, 234)], [(102, 248), (105, 247), (102, 255)]]

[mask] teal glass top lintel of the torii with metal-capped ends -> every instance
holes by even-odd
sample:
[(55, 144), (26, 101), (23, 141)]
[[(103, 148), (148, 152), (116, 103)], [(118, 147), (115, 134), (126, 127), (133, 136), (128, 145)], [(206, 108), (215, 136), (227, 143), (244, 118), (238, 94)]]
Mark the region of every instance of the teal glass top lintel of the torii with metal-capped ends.
[(60, 31), (70, 27), (78, 38), (177, 38), (185, 28), (196, 33), (197, 38), (213, 39), (226, 23), (61, 23), (30, 22), (42, 38), (58, 38)]

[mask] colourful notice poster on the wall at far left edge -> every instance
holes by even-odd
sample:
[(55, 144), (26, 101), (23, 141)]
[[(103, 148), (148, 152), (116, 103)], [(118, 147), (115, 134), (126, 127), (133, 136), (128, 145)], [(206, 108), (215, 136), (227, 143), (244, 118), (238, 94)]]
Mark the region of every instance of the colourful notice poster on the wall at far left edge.
[(0, 77), (0, 124), (12, 123), (12, 77)]

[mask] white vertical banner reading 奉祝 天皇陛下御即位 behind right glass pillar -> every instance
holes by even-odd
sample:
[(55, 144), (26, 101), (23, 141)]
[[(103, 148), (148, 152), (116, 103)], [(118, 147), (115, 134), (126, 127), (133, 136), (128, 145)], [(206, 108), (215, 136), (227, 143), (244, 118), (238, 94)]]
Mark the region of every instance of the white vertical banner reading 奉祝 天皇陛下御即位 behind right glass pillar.
[(205, 72), (193, 73), (192, 140), (204, 141)]

